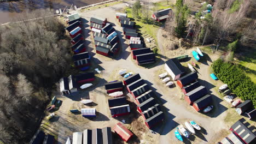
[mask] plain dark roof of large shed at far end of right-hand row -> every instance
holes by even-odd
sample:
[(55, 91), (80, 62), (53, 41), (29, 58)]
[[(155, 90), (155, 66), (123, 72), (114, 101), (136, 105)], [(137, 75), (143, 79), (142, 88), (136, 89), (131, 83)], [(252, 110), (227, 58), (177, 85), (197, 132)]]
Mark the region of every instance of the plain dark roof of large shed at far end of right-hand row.
[(177, 58), (168, 59), (168, 61), (166, 61), (165, 63), (171, 69), (174, 75), (179, 75), (184, 73), (184, 69), (181, 63), (179, 63)]

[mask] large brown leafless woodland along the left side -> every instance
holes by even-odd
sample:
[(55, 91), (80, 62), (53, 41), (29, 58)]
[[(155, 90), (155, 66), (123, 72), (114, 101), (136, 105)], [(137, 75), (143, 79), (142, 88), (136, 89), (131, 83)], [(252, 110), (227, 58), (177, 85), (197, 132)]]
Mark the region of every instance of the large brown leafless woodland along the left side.
[(39, 127), (53, 83), (70, 66), (64, 28), (56, 17), (0, 27), (0, 143), (28, 143)]

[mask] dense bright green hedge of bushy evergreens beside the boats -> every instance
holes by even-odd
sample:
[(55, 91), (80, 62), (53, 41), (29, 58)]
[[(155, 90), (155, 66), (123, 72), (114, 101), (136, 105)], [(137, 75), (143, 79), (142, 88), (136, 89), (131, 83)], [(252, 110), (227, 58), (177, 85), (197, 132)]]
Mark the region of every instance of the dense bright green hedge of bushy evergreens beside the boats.
[(252, 100), (256, 108), (256, 84), (245, 75), (244, 70), (236, 64), (224, 62), (222, 59), (214, 61), (212, 68), (218, 79), (228, 84), (233, 93), (242, 100)]

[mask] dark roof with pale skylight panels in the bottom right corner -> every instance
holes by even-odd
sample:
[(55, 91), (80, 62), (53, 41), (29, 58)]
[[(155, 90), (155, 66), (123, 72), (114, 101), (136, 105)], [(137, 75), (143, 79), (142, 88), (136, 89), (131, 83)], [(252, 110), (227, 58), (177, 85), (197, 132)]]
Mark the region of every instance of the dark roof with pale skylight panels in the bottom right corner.
[(246, 122), (245, 118), (239, 119), (231, 126), (231, 129), (246, 143), (253, 143), (256, 141), (255, 127)]

